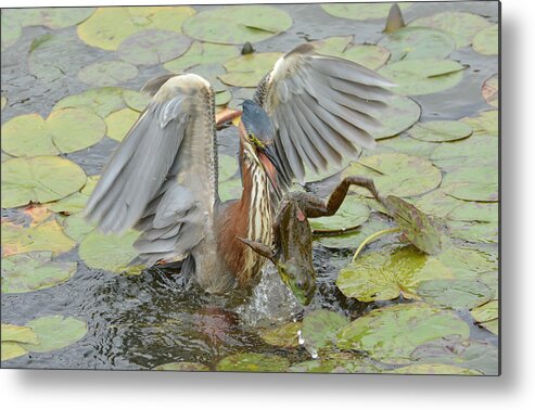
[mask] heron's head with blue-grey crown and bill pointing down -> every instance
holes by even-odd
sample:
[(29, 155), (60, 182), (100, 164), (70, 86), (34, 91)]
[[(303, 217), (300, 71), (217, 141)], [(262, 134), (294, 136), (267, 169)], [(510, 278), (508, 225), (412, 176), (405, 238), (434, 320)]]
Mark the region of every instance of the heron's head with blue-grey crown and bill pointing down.
[(275, 128), (267, 113), (252, 100), (243, 101), (243, 114), (240, 127), (240, 137), (243, 144), (254, 153), (259, 161), (273, 189), (280, 193), (278, 175), (281, 171), (281, 163), (275, 150)]

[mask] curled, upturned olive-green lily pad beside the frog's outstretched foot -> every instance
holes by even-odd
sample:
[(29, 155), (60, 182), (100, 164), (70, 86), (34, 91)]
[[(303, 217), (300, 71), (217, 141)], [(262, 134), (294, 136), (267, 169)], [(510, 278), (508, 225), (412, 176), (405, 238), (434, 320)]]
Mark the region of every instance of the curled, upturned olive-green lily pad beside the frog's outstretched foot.
[(432, 255), (441, 252), (441, 233), (430, 217), (400, 197), (390, 195), (384, 202), (402, 232), (416, 247)]

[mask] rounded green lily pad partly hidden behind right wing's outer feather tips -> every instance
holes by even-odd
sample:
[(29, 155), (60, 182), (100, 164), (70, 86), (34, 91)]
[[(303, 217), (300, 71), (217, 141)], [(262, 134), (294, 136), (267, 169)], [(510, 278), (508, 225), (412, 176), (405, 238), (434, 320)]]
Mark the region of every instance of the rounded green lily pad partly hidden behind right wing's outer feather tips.
[(396, 95), (388, 101), (384, 115), (380, 118), (381, 129), (372, 136), (375, 140), (397, 136), (410, 128), (420, 118), (421, 108), (408, 97)]

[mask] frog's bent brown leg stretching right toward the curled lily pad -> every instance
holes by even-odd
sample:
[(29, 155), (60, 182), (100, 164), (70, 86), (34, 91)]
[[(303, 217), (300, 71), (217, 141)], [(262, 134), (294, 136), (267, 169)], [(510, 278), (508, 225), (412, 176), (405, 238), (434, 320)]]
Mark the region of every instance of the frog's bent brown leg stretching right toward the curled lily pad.
[(334, 191), (332, 191), (327, 203), (317, 196), (301, 193), (297, 197), (300, 208), (307, 218), (332, 216), (336, 214), (336, 210), (339, 210), (344, 202), (351, 185), (366, 188), (371, 192), (375, 200), (380, 201), (379, 193), (372, 179), (366, 177), (345, 177)]

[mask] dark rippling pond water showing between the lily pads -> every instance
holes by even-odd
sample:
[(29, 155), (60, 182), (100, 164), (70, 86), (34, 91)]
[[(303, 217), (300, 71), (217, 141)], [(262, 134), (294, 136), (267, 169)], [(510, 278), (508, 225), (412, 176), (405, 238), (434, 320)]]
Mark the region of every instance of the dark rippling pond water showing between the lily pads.
[[(384, 36), (384, 20), (352, 21), (324, 13), (318, 4), (277, 5), (293, 20), (290, 29), (278, 36), (255, 43), (256, 52), (284, 52), (306, 40), (332, 36), (354, 36), (355, 43), (378, 43)], [(193, 7), (198, 12), (212, 7)], [(430, 2), (404, 10), (406, 22), (444, 11), (463, 11), (484, 16), (488, 22), (498, 21), (497, 2)], [(77, 27), (53, 30), (77, 39)], [(78, 94), (89, 88), (77, 77), (77, 69), (47, 80), (36, 77), (28, 68), (26, 55), (31, 42), (52, 29), (43, 26), (24, 27), (21, 38), (2, 51), (2, 97), (8, 99), (2, 110), (2, 124), (21, 115), (37, 113), (47, 118), (62, 98)], [(79, 40), (78, 40), (79, 41)], [(79, 41), (81, 43), (81, 41)], [(82, 43), (81, 43), (82, 44)], [(94, 47), (84, 47), (84, 57), (73, 64), (88, 65), (110, 60), (111, 52)], [(24, 57), (22, 57), (24, 56)], [(447, 90), (425, 95), (411, 95), (421, 106), (420, 121), (475, 117), (489, 110), (481, 97), (483, 82), (497, 74), (496, 55), (483, 55), (471, 47), (463, 47), (449, 54), (450, 60), (466, 65), (462, 80)], [(139, 75), (120, 87), (139, 89), (148, 79), (167, 73), (162, 64), (139, 67)], [(231, 88), (238, 94), (239, 88)], [(407, 136), (396, 137), (406, 139)], [(234, 156), (238, 139), (234, 129), (218, 134), (220, 154)], [(391, 139), (380, 142), (387, 150)], [(382, 148), (384, 143), (385, 148)], [(63, 154), (82, 167), (88, 176), (99, 175), (117, 141), (104, 137), (89, 149)], [(497, 153), (496, 153), (497, 155)], [(4, 153), (2, 153), (2, 162)], [(326, 195), (335, 179), (313, 183), (307, 189)], [(24, 220), (21, 208), (2, 209), (3, 220)], [(372, 218), (386, 220), (380, 214)], [(387, 221), (393, 226), (393, 222)], [(392, 236), (370, 244), (366, 252), (387, 252)], [(497, 242), (468, 245), (497, 255)], [(318, 309), (328, 309), (355, 320), (374, 309), (394, 304), (410, 303), (402, 297), (393, 300), (359, 302), (346, 297), (336, 286), (339, 271), (345, 267), (354, 249), (324, 246), (317, 241), (314, 260), (318, 274), (318, 290), (310, 306), (302, 308), (281, 284), (271, 266), (266, 266), (263, 281), (249, 294), (234, 292), (226, 296), (203, 293), (194, 283), (170, 269), (153, 268), (137, 276), (115, 274), (106, 270), (91, 269), (80, 259), (78, 249), (66, 252), (61, 260), (76, 261), (76, 273), (66, 282), (52, 287), (27, 293), (4, 293), (1, 297), (2, 323), (24, 325), (43, 317), (62, 315), (75, 317), (87, 323), (88, 333), (78, 342), (60, 350), (28, 353), (2, 362), (7, 368), (48, 369), (153, 369), (169, 362), (195, 362), (215, 369), (229, 355), (259, 353), (286, 358), (290, 363), (311, 359), (306, 346), (277, 347), (260, 337), (266, 326), (300, 321)], [(496, 295), (497, 297), (497, 295)], [(455, 309), (470, 330), (471, 342), (484, 342), (498, 346), (498, 337), (474, 324), (469, 308)], [(381, 369), (395, 366), (380, 361)], [(497, 372), (496, 370), (491, 373)]]

